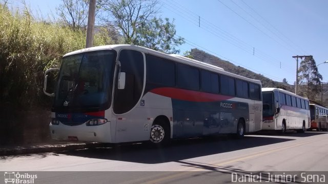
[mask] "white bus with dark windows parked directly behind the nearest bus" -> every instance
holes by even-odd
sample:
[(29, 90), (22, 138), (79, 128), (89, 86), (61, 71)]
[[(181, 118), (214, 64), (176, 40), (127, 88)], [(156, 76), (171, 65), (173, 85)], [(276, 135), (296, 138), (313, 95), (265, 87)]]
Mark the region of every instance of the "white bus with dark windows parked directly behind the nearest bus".
[(309, 99), (278, 88), (262, 88), (262, 130), (297, 130), (310, 127)]

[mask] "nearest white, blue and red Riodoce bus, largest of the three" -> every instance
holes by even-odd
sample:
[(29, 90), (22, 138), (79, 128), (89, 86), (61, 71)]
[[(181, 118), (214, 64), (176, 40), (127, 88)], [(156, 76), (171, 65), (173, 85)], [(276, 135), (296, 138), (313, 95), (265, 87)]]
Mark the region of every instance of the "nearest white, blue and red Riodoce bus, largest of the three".
[[(47, 73), (59, 70), (55, 93)], [(45, 73), (54, 139), (131, 142), (261, 130), (261, 82), (179, 55), (109, 45), (64, 55)]]

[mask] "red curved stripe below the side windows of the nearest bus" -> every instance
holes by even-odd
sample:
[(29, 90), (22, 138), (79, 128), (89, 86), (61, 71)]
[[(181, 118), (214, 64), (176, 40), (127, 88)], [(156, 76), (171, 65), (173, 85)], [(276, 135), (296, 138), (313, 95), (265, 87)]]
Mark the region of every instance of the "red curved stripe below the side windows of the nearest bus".
[(150, 91), (162, 96), (167, 96), (174, 99), (196, 101), (196, 102), (210, 102), (231, 99), (231, 96), (224, 96), (219, 94), (205, 93), (200, 91), (191, 91), (177, 88), (156, 88)]

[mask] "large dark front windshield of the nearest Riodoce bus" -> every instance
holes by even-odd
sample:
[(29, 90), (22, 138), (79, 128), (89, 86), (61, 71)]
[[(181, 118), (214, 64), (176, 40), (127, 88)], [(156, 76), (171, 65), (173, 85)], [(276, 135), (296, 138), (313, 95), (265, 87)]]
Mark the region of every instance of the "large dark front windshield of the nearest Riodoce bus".
[(111, 100), (116, 52), (100, 50), (63, 58), (54, 109), (103, 108)]

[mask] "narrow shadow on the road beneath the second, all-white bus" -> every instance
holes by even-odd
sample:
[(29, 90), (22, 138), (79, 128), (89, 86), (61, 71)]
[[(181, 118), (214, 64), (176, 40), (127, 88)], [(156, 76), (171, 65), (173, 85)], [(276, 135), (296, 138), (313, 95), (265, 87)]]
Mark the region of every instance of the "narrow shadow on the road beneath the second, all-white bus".
[(327, 134), (328, 132), (316, 132), (316, 131), (306, 131), (303, 133), (298, 133), (296, 131), (287, 131), (285, 133), (280, 132), (256, 132), (252, 135), (271, 135), (271, 136), (284, 136), (284, 137), (311, 137), (316, 135)]

